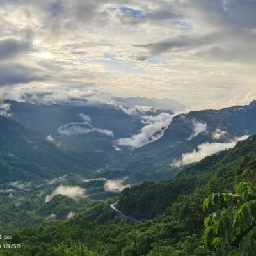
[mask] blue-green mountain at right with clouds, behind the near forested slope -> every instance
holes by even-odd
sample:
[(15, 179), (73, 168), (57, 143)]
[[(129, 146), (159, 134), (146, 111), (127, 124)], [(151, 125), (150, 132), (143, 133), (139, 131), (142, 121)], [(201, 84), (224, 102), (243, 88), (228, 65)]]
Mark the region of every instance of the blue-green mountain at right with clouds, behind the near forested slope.
[[(193, 163), (193, 159), (198, 161), (207, 154), (218, 152), (230, 145), (234, 147), (235, 141), (254, 133), (256, 133), (255, 102), (248, 106), (180, 114), (173, 117), (159, 140), (133, 150), (131, 153), (133, 161), (130, 163), (127, 161), (126, 168), (143, 170), (147, 163), (147, 166), (155, 166), (154, 170), (157, 170), (170, 166), (175, 161), (179, 162), (180, 166), (190, 164)], [(184, 160), (189, 157), (191, 161)]]

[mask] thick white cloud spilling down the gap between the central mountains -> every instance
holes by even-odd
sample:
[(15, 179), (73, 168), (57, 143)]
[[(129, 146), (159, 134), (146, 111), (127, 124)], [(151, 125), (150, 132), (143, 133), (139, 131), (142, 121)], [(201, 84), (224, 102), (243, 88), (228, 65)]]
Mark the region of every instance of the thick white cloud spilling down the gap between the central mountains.
[(140, 148), (143, 145), (156, 141), (163, 136), (173, 116), (168, 113), (161, 113), (157, 116), (143, 116), (142, 118), (147, 125), (140, 130), (139, 134), (131, 138), (115, 140), (115, 144), (124, 147)]

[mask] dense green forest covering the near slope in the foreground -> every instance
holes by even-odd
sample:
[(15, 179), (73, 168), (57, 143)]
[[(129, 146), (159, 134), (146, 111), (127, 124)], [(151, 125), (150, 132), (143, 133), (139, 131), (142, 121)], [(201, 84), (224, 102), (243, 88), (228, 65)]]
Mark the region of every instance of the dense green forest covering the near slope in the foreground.
[[(255, 200), (255, 193), (252, 193), (255, 189), (252, 184), (256, 184), (255, 148), (256, 136), (251, 136), (233, 149), (193, 164), (175, 179), (145, 181), (125, 188), (113, 199), (85, 206), (84, 211), (73, 218), (57, 223), (52, 221), (52, 225), (35, 223), (31, 227), (13, 230), (12, 244), (18, 244), (20, 248), (4, 248), (1, 240), (0, 255), (255, 255), (255, 251), (246, 254), (247, 251), (239, 250), (239, 244), (245, 243), (246, 234), (250, 233), (252, 238), (255, 222), (253, 212), (246, 207), (247, 213), (244, 213), (244, 205), (240, 211), (241, 200), (236, 199), (239, 193), (243, 196), (247, 191), (247, 197), (250, 195), (249, 199)], [(251, 190), (240, 188), (237, 191), (240, 182), (251, 184)], [(211, 196), (205, 204), (208, 195), (217, 195), (212, 193), (218, 194), (218, 204)], [(216, 214), (212, 213), (218, 209), (222, 209), (222, 217), (227, 217), (228, 207), (222, 198), (223, 193), (233, 195), (232, 203), (228, 201), (229, 207), (231, 205), (238, 212), (238, 217), (241, 215), (239, 220), (241, 223), (245, 221), (246, 226), (240, 232), (233, 232), (224, 243), (217, 243), (222, 236), (220, 230), (228, 236), (227, 227), (213, 229), (214, 240), (211, 239), (212, 231), (209, 233), (207, 229), (211, 230), (217, 223)], [(126, 214), (139, 218), (140, 222), (124, 221), (109, 207), (112, 202), (116, 202), (116, 207)], [(249, 213), (250, 220), (244, 217)], [(216, 218), (211, 217), (209, 221), (209, 216)]]

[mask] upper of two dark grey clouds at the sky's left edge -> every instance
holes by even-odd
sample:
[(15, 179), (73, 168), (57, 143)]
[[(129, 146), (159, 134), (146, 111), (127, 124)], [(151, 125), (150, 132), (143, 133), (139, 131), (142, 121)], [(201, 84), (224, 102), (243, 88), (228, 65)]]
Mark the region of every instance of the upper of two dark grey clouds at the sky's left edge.
[(31, 42), (22, 42), (13, 38), (0, 41), (0, 60), (10, 58), (31, 50)]

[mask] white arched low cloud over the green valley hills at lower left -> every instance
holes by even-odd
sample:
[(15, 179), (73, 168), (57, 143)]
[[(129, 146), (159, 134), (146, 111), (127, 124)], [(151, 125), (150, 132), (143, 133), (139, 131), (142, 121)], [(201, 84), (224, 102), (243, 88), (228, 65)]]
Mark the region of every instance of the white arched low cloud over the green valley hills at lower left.
[(63, 186), (60, 185), (54, 191), (52, 191), (51, 195), (47, 195), (45, 198), (45, 203), (49, 202), (56, 195), (67, 196), (68, 198), (78, 201), (80, 198), (86, 198), (86, 189), (80, 188), (79, 186)]

